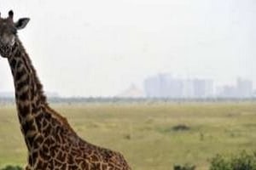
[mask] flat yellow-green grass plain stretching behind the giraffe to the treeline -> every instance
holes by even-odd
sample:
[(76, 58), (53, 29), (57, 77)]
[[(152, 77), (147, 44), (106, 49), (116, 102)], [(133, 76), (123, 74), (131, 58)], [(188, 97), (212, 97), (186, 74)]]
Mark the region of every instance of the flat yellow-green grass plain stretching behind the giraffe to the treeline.
[[(135, 170), (207, 169), (216, 154), (256, 150), (256, 103), (51, 105), (87, 141), (122, 152)], [(26, 164), (15, 106), (0, 105), (0, 167)], [(172, 127), (186, 125), (189, 130)]]

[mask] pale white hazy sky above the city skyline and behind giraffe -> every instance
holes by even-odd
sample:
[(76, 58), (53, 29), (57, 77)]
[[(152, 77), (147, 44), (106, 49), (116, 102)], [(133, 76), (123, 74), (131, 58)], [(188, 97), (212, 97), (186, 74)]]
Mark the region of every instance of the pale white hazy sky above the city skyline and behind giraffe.
[[(1, 0), (30, 17), (19, 32), (45, 91), (113, 96), (170, 72), (256, 82), (255, 0)], [(0, 59), (0, 91), (13, 90)]]

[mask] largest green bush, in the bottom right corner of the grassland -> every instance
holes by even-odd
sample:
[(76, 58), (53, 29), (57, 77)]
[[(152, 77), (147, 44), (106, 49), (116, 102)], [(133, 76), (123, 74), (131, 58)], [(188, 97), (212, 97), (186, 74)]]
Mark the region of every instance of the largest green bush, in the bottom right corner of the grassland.
[(230, 159), (215, 156), (211, 161), (210, 170), (256, 170), (256, 152), (248, 154), (242, 151), (238, 156)]

